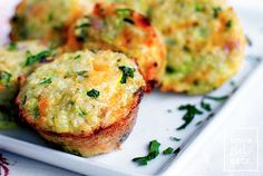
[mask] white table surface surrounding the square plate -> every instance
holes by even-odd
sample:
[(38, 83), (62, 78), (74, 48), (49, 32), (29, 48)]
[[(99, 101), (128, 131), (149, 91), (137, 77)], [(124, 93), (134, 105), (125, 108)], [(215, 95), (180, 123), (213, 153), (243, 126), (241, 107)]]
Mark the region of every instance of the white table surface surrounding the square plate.
[[(7, 2), (9, 0), (0, 0), (0, 23), (4, 21), (2, 18), (4, 17), (6, 10), (3, 6), (4, 1)], [(232, 0), (231, 3), (238, 8), (251, 7), (263, 10), (263, 3), (260, 0)], [(259, 147), (259, 170), (256, 172), (227, 172), (224, 168), (224, 154), (230, 149), (224, 147), (225, 139), (227, 139), (233, 130), (236, 130), (237, 128), (242, 130), (252, 128), (259, 131), (259, 146), (256, 146)], [(0, 154), (3, 154), (10, 164), (10, 176), (78, 175), (40, 162), (10, 154), (8, 151), (0, 150)], [(181, 176), (263, 176), (263, 81), (259, 81), (250, 97), (244, 99), (238, 105), (238, 108), (233, 109), (232, 117), (230, 117), (227, 124), (222, 127), (222, 130), (214, 135), (207, 144), (204, 144), (204, 147), (199, 149), (198, 153), (193, 154), (193, 159), (181, 168)], [(173, 173), (171, 173), (171, 175), (173, 175)]]

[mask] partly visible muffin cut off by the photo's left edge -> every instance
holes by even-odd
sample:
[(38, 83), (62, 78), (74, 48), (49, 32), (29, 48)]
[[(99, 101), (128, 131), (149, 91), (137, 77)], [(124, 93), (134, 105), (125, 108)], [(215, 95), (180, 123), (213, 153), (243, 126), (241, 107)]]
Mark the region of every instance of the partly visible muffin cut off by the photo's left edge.
[(0, 47), (0, 106), (10, 107), (18, 91), (18, 78), (29, 75), (36, 63), (52, 52), (40, 41), (23, 41)]

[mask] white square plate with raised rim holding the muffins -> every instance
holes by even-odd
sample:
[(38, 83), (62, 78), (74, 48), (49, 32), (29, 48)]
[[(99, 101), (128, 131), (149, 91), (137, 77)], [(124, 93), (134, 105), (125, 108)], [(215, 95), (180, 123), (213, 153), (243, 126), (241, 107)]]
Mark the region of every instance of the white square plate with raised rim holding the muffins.
[[(0, 11), (1, 6), (3, 4), (0, 3)], [(7, 7), (7, 3), (4, 6)], [(92, 158), (81, 158), (49, 148), (35, 131), (25, 128), (0, 130), (0, 148), (86, 175), (171, 175), (172, 167), (178, 165), (177, 158), (182, 160), (187, 157), (187, 153), (197, 149), (201, 143), (220, 128), (223, 121), (227, 120), (238, 101), (245, 99), (253, 88), (253, 82), (262, 80), (263, 65), (257, 56), (262, 56), (263, 37), (261, 32), (263, 29), (257, 17), (263, 16), (261, 16), (261, 11), (242, 8), (238, 9), (238, 12), (245, 33), (252, 39), (253, 46), (247, 49), (242, 70), (233, 78), (234, 82), (240, 86), (237, 91), (224, 104), (210, 101), (215, 114), (212, 119), (205, 120), (208, 114), (204, 114), (196, 117), (185, 130), (176, 130), (184, 123), (183, 113), (177, 108), (186, 104), (198, 105), (202, 97), (155, 91), (143, 99), (137, 124), (120, 150)], [(211, 95), (228, 95), (232, 90), (233, 86), (230, 81)], [(205, 123), (196, 125), (201, 120)], [(178, 137), (181, 140), (173, 141), (172, 136)], [(153, 139), (157, 139), (162, 144), (160, 150), (167, 147), (179, 147), (181, 153), (168, 156), (160, 154), (147, 166), (137, 166), (132, 159), (146, 155), (147, 145)]]

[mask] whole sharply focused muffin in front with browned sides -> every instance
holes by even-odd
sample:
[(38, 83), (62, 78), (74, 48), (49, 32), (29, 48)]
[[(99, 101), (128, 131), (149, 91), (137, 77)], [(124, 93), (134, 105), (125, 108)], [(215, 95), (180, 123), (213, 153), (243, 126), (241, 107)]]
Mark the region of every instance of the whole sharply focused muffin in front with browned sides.
[(125, 55), (78, 51), (36, 69), (17, 105), (22, 120), (45, 139), (88, 157), (114, 150), (125, 140), (144, 87), (136, 63)]

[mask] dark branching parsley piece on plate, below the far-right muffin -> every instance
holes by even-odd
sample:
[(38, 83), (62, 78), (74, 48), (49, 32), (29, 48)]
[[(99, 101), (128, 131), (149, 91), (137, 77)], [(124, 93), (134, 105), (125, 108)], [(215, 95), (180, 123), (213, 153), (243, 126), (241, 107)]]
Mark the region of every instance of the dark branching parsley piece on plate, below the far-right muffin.
[(197, 109), (194, 105), (185, 105), (181, 106), (178, 108), (179, 110), (186, 110), (186, 114), (183, 117), (183, 120), (185, 121), (181, 127), (176, 128), (177, 130), (185, 129), (194, 119), (196, 115), (202, 115), (203, 111)]

